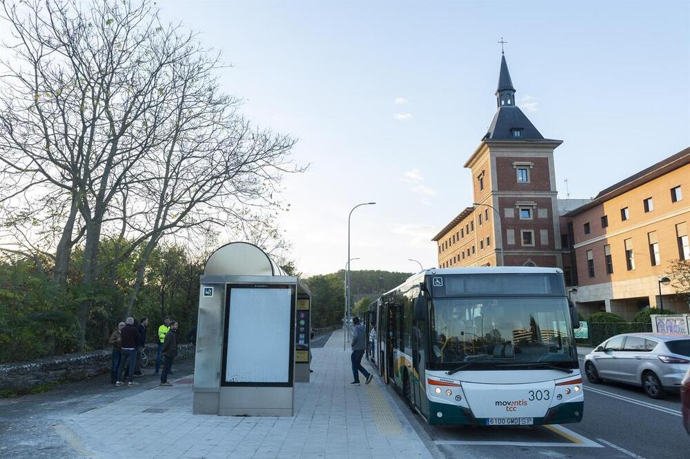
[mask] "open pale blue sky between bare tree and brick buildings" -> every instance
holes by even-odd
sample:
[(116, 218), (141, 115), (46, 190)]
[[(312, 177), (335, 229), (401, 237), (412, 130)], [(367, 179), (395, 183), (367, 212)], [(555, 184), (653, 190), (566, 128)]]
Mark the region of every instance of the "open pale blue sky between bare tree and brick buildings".
[(559, 197), (589, 198), (690, 145), (690, 1), (181, 1), (161, 15), (221, 50), (226, 91), (298, 139), (281, 229), (304, 274), (412, 272), (471, 205), (463, 167), (496, 103), (555, 150)]

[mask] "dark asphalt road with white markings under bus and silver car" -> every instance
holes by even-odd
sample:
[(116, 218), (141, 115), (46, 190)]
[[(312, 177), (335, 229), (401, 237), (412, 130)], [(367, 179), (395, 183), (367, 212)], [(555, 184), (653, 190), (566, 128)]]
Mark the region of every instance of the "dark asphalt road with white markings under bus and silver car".
[[(584, 367), (581, 371), (584, 375)], [(442, 458), (690, 457), (690, 436), (682, 427), (678, 394), (653, 400), (641, 388), (615, 383), (585, 383), (584, 388), (582, 422), (552, 427), (433, 427), (400, 397), (394, 400)]]

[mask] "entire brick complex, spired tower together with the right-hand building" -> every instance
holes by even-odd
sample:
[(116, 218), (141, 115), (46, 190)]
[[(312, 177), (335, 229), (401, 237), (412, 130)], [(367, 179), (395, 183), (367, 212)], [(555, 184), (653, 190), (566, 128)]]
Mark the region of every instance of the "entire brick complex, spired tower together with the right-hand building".
[[(690, 259), (690, 148), (624, 179), (593, 200), (557, 199), (553, 151), (515, 105), (501, 58), (497, 111), (464, 167), (473, 203), (436, 236), (439, 267), (561, 267), (585, 316), (631, 319), (660, 302), (660, 278)], [(686, 297), (661, 285), (665, 308), (688, 312)]]

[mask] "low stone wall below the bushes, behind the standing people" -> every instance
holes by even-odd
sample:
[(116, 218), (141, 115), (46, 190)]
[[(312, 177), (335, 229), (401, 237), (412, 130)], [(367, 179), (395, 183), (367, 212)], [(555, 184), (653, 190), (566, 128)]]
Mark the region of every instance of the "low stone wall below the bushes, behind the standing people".
[[(148, 368), (155, 365), (157, 346), (148, 344)], [(101, 349), (84, 354), (64, 354), (31, 362), (0, 365), (0, 391), (25, 392), (55, 382), (79, 381), (110, 371), (112, 351)], [(177, 358), (194, 354), (192, 345), (177, 346)]]

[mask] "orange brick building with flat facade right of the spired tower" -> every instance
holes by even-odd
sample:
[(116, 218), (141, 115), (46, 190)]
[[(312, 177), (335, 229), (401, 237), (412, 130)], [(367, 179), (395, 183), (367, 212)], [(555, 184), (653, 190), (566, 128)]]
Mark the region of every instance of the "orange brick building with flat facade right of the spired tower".
[[(686, 194), (686, 196), (684, 196)], [(659, 280), (673, 260), (690, 259), (690, 148), (628, 177), (567, 213), (583, 314), (625, 318), (659, 305), (688, 312), (687, 300)]]

